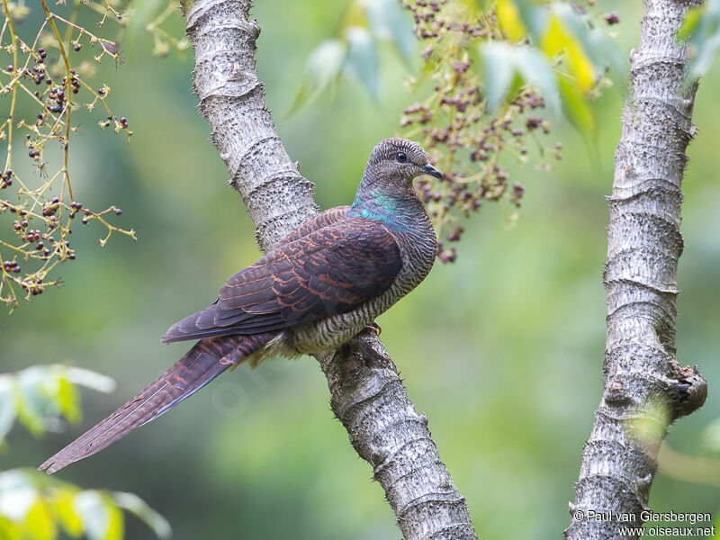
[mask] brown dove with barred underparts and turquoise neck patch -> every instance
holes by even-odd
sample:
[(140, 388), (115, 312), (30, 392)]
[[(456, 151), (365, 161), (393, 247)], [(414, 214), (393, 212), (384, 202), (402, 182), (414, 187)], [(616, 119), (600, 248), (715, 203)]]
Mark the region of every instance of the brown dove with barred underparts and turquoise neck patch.
[(162, 343), (198, 340), (165, 374), (41, 464), (56, 473), (157, 419), (229, 368), (334, 350), (410, 293), (437, 253), (413, 185), (443, 175), (409, 139), (384, 139), (349, 206), (312, 217), (257, 263), (232, 275), (209, 307), (176, 322)]

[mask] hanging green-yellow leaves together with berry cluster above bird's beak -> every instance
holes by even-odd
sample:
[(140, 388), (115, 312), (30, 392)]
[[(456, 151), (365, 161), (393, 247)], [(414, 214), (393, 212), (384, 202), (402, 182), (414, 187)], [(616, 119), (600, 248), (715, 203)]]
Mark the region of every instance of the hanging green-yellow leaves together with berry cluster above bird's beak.
[[(293, 109), (319, 94), (348, 70), (377, 97), (377, 49), (373, 36), (392, 40), (403, 56), (411, 48), (407, 28), (384, 0), (356, 0), (338, 36), (324, 41), (308, 63), (310, 81)], [(394, 2), (392, 3), (394, 4)], [(509, 165), (526, 163), (536, 148), (539, 168), (547, 156), (562, 157), (562, 146), (547, 146), (549, 116), (564, 112), (587, 141), (595, 131), (590, 100), (610, 84), (607, 73), (626, 74), (626, 62), (608, 26), (617, 14), (561, 1), (401, 0), (423, 44), (418, 76), (410, 88), (418, 101), (401, 118), (401, 135), (418, 139), (444, 173), (423, 178), (419, 191), (443, 241), (438, 257), (455, 260), (464, 232), (461, 220), (483, 201), (500, 202), (508, 220), (517, 220), (524, 188), (509, 182)], [(392, 16), (372, 16), (383, 7)]]

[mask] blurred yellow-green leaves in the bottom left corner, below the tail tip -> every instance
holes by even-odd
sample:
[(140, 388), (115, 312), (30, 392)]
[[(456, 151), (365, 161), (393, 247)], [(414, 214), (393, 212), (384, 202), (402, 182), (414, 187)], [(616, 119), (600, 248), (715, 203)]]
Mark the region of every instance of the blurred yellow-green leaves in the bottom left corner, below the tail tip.
[(132, 493), (81, 490), (25, 469), (0, 473), (0, 537), (4, 540), (54, 540), (67, 536), (120, 540), (125, 513), (130, 512), (160, 538), (170, 525)]

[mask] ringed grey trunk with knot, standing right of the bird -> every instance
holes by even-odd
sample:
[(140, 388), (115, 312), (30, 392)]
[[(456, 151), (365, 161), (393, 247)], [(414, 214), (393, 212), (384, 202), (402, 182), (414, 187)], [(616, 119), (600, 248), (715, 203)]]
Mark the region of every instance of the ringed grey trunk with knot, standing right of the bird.
[(705, 379), (697, 367), (680, 367), (675, 347), (680, 184), (697, 89), (686, 82), (686, 44), (676, 36), (702, 0), (644, 4), (608, 198), (605, 390), (582, 451), (567, 540), (636, 537), (620, 536), (618, 515), (642, 525), (668, 426), (707, 396)]

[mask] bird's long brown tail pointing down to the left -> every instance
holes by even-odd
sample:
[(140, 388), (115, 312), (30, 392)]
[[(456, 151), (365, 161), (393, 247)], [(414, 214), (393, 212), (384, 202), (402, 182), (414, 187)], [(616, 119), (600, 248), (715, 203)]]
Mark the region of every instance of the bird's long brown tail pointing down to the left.
[(133, 429), (157, 419), (230, 366), (242, 362), (265, 345), (269, 338), (271, 336), (266, 334), (255, 334), (198, 341), (154, 383), (41, 464), (40, 471), (47, 469), (49, 474), (55, 473), (68, 464), (100, 452)]

